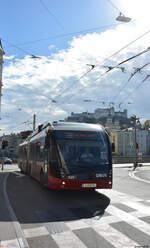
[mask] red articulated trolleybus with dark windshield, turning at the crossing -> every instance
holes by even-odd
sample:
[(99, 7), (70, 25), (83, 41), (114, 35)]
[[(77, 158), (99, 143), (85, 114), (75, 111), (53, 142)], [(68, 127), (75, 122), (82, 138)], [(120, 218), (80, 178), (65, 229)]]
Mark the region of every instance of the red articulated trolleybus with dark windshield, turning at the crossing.
[(40, 125), (19, 145), (19, 168), (52, 189), (112, 188), (111, 145), (99, 124)]

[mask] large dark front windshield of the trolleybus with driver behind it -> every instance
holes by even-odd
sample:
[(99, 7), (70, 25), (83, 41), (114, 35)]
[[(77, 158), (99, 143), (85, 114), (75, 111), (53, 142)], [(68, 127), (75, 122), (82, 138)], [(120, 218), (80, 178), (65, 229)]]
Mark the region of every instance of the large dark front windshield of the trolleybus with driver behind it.
[(56, 131), (58, 150), (68, 173), (105, 171), (108, 141), (103, 132)]

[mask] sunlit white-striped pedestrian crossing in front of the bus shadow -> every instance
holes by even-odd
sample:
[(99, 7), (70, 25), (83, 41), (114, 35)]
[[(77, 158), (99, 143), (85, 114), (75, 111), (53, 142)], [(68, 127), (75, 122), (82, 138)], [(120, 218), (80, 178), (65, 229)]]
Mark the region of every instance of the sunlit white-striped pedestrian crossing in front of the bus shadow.
[[(29, 247), (150, 247), (150, 223), (148, 221), (146, 222), (146, 218), (150, 219), (150, 206), (146, 205), (150, 200), (144, 201), (138, 197), (116, 190), (98, 190), (98, 192), (111, 199), (104, 215), (94, 215), (90, 218), (76, 218), (74, 216), (76, 211), (65, 209), (65, 216), (68, 214), (72, 218), (70, 220), (67, 218), (63, 220), (58, 218), (59, 221), (56, 222), (55, 218), (53, 218), (53, 213), (47, 219), (47, 213), (43, 209), (42, 214), (39, 215), (42, 218), (39, 220), (40, 226), (23, 229)], [(2, 241), (1, 245), (5, 248), (19, 247), (17, 240)]]

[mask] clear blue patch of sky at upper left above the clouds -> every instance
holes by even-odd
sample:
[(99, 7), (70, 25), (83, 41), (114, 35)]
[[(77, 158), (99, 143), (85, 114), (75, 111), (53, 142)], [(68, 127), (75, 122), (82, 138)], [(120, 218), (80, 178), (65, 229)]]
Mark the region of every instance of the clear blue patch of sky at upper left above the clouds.
[[(29, 54), (42, 56), (49, 55), (50, 44), (63, 49), (72, 39), (72, 35), (51, 37), (116, 24), (112, 17), (117, 15), (107, 0), (6, 0), (2, 1), (1, 8), (1, 38)], [(40, 39), (48, 40), (38, 42)], [(8, 55), (14, 52), (18, 57), (25, 55), (5, 43)]]

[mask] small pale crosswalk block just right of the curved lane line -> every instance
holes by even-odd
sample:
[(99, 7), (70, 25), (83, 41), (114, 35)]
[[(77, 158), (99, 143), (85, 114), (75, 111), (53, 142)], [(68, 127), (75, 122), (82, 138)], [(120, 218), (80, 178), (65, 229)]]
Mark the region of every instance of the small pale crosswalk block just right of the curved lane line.
[(24, 229), (23, 231), (26, 238), (34, 238), (34, 237), (49, 235), (49, 232), (44, 226)]

